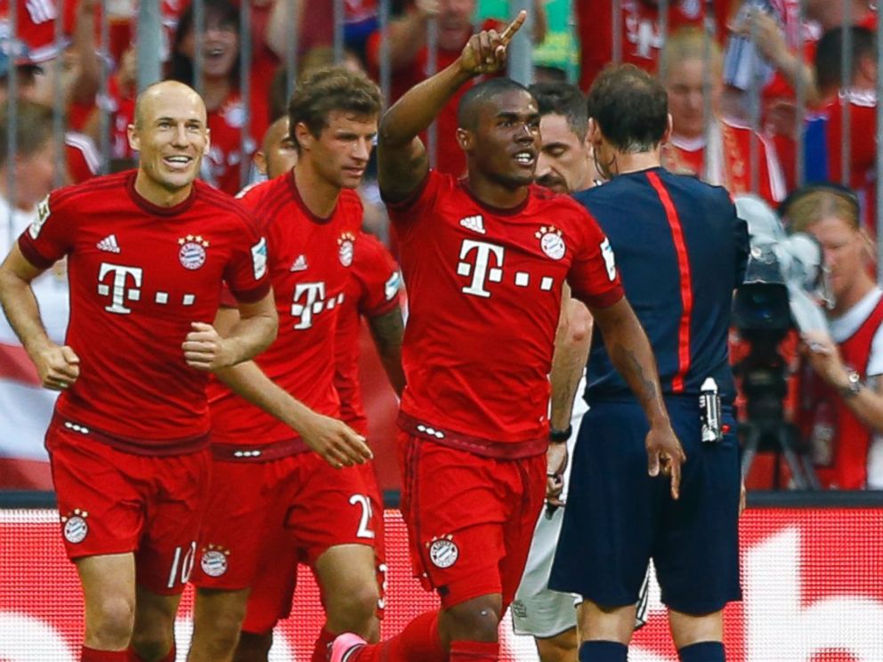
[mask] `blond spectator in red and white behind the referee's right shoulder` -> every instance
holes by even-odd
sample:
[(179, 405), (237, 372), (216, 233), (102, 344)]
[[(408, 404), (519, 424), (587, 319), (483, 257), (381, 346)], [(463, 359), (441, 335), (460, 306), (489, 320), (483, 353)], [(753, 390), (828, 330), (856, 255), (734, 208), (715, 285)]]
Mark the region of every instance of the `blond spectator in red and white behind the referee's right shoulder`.
[[(671, 139), (664, 148), (668, 169), (695, 174), (705, 182), (724, 186), (733, 195), (757, 192), (773, 204), (782, 200), (785, 183), (773, 143), (720, 112), (723, 80), (717, 44), (708, 44), (700, 30), (677, 30), (668, 38), (661, 64), (672, 119)], [(708, 126), (703, 93), (706, 82), (711, 94)], [(753, 190), (752, 140), (757, 141), (757, 191)]]

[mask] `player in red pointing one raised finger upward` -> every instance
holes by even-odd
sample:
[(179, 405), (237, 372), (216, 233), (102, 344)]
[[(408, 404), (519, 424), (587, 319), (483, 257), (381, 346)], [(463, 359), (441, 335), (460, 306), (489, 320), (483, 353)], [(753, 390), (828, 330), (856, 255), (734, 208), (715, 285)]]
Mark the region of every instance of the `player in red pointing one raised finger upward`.
[(525, 12), (470, 38), (457, 61), (384, 116), (381, 191), (409, 289), (402, 360), (402, 514), (415, 574), (441, 597), (401, 634), (336, 638), (333, 662), (494, 660), (498, 624), (522, 577), (546, 488), (547, 407), (562, 287), (587, 303), (613, 362), (644, 405), (649, 469), (676, 494), (683, 453), (650, 345), (623, 298), (613, 254), (570, 198), (531, 185), (539, 110), (493, 78), (458, 109), (468, 177), (434, 173), (417, 135), (461, 85), (502, 68)]

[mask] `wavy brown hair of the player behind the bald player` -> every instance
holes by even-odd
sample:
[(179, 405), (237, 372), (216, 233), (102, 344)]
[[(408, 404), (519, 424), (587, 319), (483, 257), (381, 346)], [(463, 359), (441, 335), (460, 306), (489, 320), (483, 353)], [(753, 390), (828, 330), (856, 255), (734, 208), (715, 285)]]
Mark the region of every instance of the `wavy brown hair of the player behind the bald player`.
[(365, 74), (344, 67), (323, 67), (298, 81), (288, 102), (289, 131), (299, 150), (296, 125), (304, 123), (318, 138), (328, 127), (328, 114), (335, 110), (376, 117), (380, 108), (380, 89)]

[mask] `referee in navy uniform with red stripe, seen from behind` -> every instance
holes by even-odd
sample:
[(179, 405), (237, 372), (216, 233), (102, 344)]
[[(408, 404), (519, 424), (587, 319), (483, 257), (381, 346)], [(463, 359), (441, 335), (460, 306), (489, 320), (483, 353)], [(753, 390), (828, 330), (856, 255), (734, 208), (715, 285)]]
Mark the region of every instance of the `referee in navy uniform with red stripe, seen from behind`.
[[(727, 333), (748, 231), (726, 190), (660, 166), (665, 90), (631, 65), (589, 92), (589, 138), (610, 180), (575, 198), (595, 217), (659, 364), (687, 456), (681, 493), (647, 472), (647, 421), (600, 333), (549, 587), (580, 593), (580, 662), (625, 662), (652, 558), (683, 662), (723, 662), (722, 610), (741, 599), (740, 472)], [(702, 401), (702, 406), (701, 406)]]

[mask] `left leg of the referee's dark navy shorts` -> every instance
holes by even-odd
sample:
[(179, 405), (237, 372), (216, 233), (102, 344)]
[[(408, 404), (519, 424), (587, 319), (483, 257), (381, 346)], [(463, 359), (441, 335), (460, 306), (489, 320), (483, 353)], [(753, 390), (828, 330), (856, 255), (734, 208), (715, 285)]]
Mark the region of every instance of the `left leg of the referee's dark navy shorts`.
[(637, 403), (597, 403), (584, 416), (549, 586), (607, 606), (634, 604), (644, 580), (664, 477), (647, 475)]

